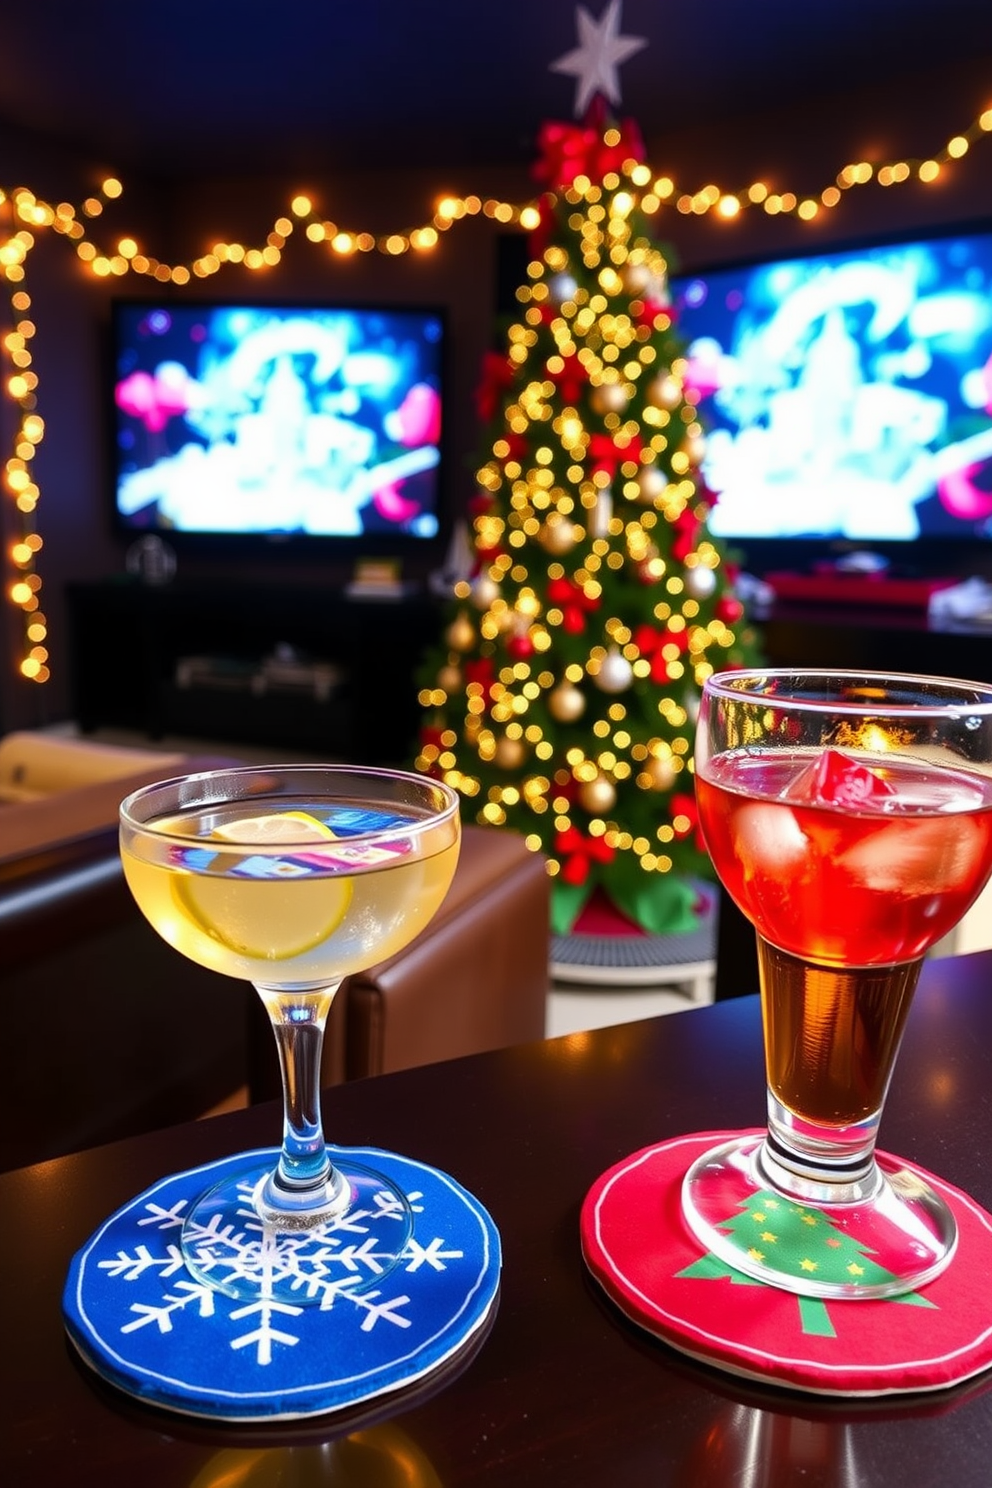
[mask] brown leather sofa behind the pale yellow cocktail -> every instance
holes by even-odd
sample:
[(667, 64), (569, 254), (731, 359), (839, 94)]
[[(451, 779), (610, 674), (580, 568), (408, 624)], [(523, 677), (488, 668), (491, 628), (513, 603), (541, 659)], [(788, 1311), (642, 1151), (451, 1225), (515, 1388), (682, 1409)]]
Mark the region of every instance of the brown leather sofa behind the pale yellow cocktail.
[[(0, 1171), (278, 1092), (254, 991), (165, 945), (120, 870), (122, 796), (222, 763), (149, 754), (143, 771), (0, 805)], [(342, 984), (323, 1082), (541, 1039), (547, 961), (543, 859), (467, 827), (434, 921)]]

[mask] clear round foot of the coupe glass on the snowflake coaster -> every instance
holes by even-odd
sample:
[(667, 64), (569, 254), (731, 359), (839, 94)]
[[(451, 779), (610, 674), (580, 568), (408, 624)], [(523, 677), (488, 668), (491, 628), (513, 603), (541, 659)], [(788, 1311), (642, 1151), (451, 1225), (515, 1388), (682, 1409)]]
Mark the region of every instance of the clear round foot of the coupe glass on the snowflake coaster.
[(265, 1202), (274, 1158), (245, 1159), (186, 1214), (181, 1251), (196, 1281), (250, 1302), (330, 1308), (341, 1292), (367, 1292), (403, 1260), (413, 1214), (390, 1178), (336, 1153), (317, 1223), (302, 1210), (280, 1222)]

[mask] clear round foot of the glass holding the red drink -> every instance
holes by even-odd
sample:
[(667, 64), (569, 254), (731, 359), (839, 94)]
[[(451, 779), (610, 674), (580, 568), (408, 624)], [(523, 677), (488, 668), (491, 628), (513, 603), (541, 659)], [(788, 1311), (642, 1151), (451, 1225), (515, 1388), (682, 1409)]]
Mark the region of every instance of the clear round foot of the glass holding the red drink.
[(848, 1299), (915, 1292), (950, 1263), (953, 1214), (895, 1158), (879, 1155), (872, 1178), (840, 1202), (827, 1183), (815, 1196), (811, 1186), (790, 1195), (769, 1178), (764, 1135), (742, 1135), (689, 1168), (683, 1216), (727, 1266), (785, 1292)]

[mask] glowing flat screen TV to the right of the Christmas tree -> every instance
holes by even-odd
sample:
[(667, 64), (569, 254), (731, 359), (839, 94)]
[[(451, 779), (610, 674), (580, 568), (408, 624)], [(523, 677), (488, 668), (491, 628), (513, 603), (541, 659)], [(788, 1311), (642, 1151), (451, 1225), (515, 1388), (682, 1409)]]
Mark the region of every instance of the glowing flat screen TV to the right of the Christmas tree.
[(712, 533), (747, 565), (992, 562), (992, 225), (672, 281)]

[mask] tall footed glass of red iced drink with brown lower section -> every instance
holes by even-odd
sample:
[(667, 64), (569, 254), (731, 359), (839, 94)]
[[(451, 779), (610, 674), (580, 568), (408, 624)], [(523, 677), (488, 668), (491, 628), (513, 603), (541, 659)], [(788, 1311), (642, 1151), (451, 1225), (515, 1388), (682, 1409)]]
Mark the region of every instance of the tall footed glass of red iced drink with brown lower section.
[(949, 1265), (955, 1222), (876, 1137), (922, 958), (992, 870), (992, 687), (714, 676), (696, 795), (757, 931), (767, 1129), (690, 1168), (686, 1220), (721, 1260), (791, 1292), (912, 1292)]

